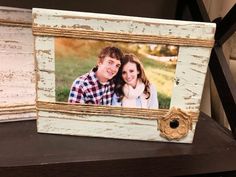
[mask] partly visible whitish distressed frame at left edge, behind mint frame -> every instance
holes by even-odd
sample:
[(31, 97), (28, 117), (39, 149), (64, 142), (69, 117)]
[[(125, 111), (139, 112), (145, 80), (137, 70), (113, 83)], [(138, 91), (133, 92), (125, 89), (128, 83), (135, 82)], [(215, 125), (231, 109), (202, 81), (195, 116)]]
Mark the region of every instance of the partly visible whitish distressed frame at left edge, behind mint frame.
[(0, 122), (36, 119), (32, 11), (0, 7)]

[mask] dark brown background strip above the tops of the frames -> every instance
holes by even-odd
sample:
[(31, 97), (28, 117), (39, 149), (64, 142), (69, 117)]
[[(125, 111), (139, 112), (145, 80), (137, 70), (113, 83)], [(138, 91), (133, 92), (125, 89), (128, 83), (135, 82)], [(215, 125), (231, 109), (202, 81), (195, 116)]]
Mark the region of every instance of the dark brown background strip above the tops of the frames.
[(174, 19), (177, 0), (0, 0), (0, 6)]

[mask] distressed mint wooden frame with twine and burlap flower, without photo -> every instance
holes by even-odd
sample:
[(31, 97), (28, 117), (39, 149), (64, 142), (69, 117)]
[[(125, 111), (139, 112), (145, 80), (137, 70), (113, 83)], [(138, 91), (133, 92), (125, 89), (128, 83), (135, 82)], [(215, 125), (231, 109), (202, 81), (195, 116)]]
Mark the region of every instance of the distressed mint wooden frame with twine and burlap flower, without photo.
[[(40, 133), (191, 143), (215, 24), (33, 9)], [(170, 109), (55, 101), (55, 38), (179, 46)]]

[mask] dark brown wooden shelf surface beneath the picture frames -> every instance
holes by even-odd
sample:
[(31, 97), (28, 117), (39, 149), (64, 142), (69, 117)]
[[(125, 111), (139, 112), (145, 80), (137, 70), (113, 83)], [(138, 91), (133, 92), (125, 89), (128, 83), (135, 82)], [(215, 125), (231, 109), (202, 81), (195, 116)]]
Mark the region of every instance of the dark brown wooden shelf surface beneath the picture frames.
[(0, 124), (0, 176), (183, 176), (236, 170), (236, 140), (201, 113), (193, 144), (39, 134)]

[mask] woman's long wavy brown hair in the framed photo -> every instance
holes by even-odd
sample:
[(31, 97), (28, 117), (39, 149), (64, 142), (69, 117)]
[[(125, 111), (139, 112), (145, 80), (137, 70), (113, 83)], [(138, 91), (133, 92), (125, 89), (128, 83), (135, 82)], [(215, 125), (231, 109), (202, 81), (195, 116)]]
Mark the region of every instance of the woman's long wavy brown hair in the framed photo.
[(146, 77), (143, 65), (134, 54), (126, 54), (126, 55), (124, 55), (123, 59), (121, 60), (121, 66), (120, 66), (119, 72), (116, 76), (115, 93), (119, 97), (118, 101), (120, 102), (124, 97), (123, 86), (125, 85), (125, 81), (122, 78), (122, 70), (123, 70), (124, 66), (129, 62), (136, 64), (137, 70), (139, 71), (137, 78), (141, 79), (141, 81), (144, 83), (145, 88), (144, 88), (143, 93), (147, 96), (146, 99), (148, 99), (150, 97), (150, 82)]

